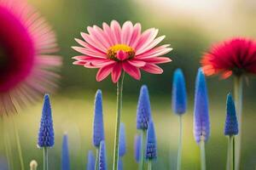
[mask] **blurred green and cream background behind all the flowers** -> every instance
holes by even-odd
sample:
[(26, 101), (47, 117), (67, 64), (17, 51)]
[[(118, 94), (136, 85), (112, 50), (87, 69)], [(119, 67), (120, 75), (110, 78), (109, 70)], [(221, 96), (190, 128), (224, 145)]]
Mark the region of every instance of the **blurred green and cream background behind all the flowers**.
[[(150, 91), (152, 112), (158, 139), (159, 157), (154, 169), (176, 169), (178, 117), (172, 114), (171, 89), (172, 73), (182, 68), (187, 81), (189, 111), (184, 118), (183, 133), (183, 169), (200, 169), (199, 147), (193, 138), (193, 96), (195, 74), (200, 67), (201, 54), (213, 42), (235, 36), (256, 37), (256, 3), (253, 0), (208, 1), (189, 0), (30, 0), (54, 27), (63, 56), (60, 88), (52, 94), (52, 107), (55, 122), (55, 147), (49, 150), (49, 169), (60, 169), (61, 139), (67, 132), (72, 169), (85, 169), (87, 152), (94, 150), (91, 144), (93, 102), (96, 89), (103, 93), (104, 126), (107, 141), (108, 167), (112, 168), (113, 134), (115, 122), (115, 85), (110, 78), (96, 82), (96, 70), (72, 65), (71, 57), (77, 55), (71, 48), (77, 45), (74, 37), (80, 37), (80, 31), (86, 26), (102, 25), (111, 20), (120, 23), (131, 20), (140, 22), (143, 30), (149, 27), (160, 29), (160, 35), (166, 35), (163, 43), (171, 43), (173, 51), (167, 56), (171, 64), (162, 65), (162, 75), (143, 73), (142, 80), (125, 77), (124, 106), (122, 122), (126, 125), (127, 155), (124, 157), (125, 170), (137, 169), (133, 158), (133, 139), (136, 130), (136, 109), (139, 88), (147, 84)], [(225, 97), (232, 91), (232, 78), (219, 80), (207, 78), (211, 138), (207, 143), (207, 169), (224, 169), (226, 162), (227, 138), (224, 137)], [(256, 80), (250, 77), (244, 86), (244, 111), (242, 124), (241, 169), (253, 169), (256, 166)], [(43, 98), (43, 96), (42, 96)], [(37, 149), (38, 123), (42, 102), (31, 105), (15, 116), (19, 129), (20, 142), (26, 169), (32, 159), (38, 161), (38, 169), (43, 169), (43, 151)], [(11, 122), (8, 118), (7, 122)], [(5, 125), (10, 136), (14, 136), (13, 127)], [(14, 169), (19, 170), (19, 159), (13, 145)], [(0, 153), (4, 153), (3, 147)]]

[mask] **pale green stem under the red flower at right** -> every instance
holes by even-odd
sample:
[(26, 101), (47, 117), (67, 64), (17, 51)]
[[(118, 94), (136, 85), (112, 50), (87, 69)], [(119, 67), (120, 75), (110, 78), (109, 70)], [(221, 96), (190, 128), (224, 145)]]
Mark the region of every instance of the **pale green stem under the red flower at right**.
[(238, 133), (236, 137), (236, 165), (235, 169), (238, 170), (240, 167), (240, 154), (241, 154), (241, 112), (242, 112), (242, 77), (234, 77), (234, 91), (235, 91), (235, 103), (236, 113), (238, 120)]

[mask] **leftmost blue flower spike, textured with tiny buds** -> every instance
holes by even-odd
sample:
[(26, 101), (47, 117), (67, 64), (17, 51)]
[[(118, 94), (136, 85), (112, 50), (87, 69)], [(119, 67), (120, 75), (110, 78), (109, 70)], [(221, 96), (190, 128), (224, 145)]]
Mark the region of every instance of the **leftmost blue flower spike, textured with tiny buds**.
[(49, 94), (45, 94), (41, 123), (38, 133), (38, 147), (51, 147), (54, 144), (55, 134), (51, 115), (51, 107), (49, 103)]

